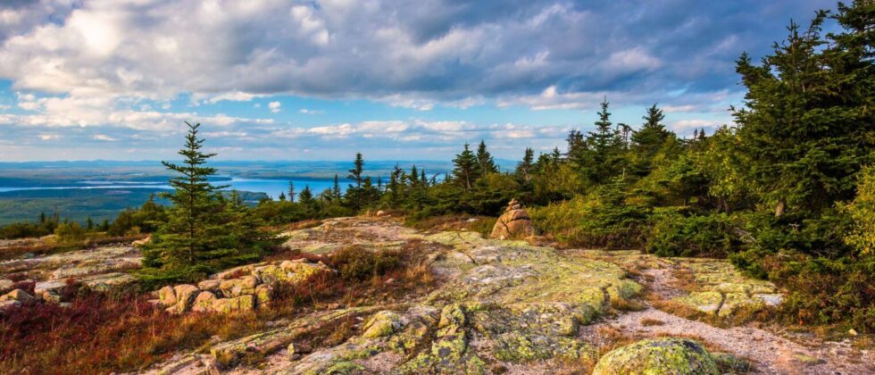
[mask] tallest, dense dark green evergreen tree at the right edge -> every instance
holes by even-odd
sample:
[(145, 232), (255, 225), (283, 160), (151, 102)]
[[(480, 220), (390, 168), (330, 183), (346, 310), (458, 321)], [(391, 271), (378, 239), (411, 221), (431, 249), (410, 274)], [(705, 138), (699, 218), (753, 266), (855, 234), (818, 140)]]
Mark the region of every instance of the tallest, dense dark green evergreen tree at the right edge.
[(737, 61), (748, 88), (745, 108), (734, 112), (746, 170), (776, 216), (852, 199), (856, 173), (872, 162), (875, 12), (871, 2), (854, 5), (839, 8), (843, 32), (829, 40), (821, 37), (827, 12), (819, 12), (807, 29), (791, 23), (761, 64), (747, 54)]

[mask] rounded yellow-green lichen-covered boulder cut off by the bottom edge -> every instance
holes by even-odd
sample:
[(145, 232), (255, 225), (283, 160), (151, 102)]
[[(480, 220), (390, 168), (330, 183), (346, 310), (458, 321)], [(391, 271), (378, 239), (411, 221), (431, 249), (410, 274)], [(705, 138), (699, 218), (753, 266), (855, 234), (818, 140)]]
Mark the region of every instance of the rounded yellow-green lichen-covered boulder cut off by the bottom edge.
[(593, 375), (719, 374), (712, 355), (687, 338), (656, 338), (612, 350), (596, 363)]

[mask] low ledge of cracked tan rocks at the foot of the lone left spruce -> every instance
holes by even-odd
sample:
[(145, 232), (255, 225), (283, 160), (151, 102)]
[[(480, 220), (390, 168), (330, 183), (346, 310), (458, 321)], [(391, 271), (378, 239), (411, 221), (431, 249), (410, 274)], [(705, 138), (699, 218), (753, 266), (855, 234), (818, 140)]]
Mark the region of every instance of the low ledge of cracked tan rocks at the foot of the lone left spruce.
[(152, 301), (165, 311), (176, 314), (250, 312), (271, 303), (275, 284), (294, 285), (313, 275), (331, 271), (322, 262), (312, 263), (304, 259), (248, 264), (217, 273), (213, 279), (198, 282), (197, 286), (162, 287), (154, 292), (157, 299)]

